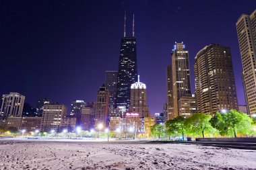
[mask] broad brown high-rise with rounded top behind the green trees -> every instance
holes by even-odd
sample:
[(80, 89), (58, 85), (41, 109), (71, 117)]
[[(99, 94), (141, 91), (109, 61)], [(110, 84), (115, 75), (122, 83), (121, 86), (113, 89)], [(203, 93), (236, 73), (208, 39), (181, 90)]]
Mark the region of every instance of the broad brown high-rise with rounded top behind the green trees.
[(230, 48), (210, 44), (195, 56), (197, 110), (215, 114), (222, 108), (238, 109)]

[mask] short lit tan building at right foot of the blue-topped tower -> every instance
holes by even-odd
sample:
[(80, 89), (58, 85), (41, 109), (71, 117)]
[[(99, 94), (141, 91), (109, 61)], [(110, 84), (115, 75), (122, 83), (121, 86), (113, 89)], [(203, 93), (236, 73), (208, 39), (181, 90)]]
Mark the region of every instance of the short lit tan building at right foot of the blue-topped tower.
[(189, 117), (197, 112), (197, 98), (195, 96), (191, 97), (181, 97), (179, 99), (179, 116)]

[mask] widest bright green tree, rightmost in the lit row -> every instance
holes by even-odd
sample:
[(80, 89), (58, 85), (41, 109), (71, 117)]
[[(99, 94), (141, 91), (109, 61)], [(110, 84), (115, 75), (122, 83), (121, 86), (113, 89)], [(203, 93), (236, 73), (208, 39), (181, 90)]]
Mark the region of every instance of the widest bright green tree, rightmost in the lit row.
[(253, 120), (247, 114), (237, 110), (229, 110), (227, 113), (216, 112), (210, 122), (221, 135), (234, 134), (235, 138), (237, 132), (249, 134), (253, 124)]

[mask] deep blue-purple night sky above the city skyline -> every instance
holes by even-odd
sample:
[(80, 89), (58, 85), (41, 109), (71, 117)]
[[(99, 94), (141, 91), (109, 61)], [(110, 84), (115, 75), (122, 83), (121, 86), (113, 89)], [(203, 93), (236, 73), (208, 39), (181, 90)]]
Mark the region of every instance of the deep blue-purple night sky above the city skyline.
[(127, 11), (135, 13), (137, 66), (147, 85), (150, 112), (166, 102), (166, 67), (174, 42), (189, 50), (192, 92), (195, 54), (205, 45), (229, 46), (238, 103), (245, 104), (236, 21), (256, 0), (220, 1), (1, 1), (0, 95), (26, 95), (35, 106), (47, 97), (64, 103), (95, 101), (105, 71), (117, 70)]

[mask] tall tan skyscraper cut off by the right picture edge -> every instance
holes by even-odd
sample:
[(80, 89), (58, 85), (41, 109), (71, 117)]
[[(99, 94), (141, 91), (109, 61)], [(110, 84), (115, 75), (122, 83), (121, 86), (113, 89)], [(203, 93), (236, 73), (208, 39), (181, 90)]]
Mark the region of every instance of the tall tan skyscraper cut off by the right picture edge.
[(256, 114), (256, 9), (242, 14), (236, 22), (236, 31), (243, 65), (243, 85), (247, 111)]

